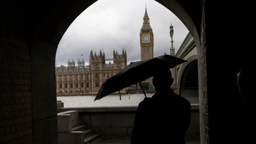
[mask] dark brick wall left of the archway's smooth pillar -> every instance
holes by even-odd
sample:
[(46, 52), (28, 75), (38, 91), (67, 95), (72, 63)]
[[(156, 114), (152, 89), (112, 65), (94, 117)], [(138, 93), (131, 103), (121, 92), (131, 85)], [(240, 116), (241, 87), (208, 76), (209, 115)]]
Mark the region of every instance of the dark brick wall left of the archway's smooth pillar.
[(11, 22), (0, 25), (0, 143), (32, 144), (30, 51)]

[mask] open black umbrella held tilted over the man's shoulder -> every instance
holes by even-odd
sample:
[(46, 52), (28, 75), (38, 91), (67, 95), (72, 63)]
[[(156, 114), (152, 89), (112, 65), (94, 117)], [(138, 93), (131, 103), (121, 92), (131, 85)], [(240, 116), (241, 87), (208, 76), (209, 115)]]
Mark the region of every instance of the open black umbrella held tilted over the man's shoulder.
[[(96, 95), (95, 100), (100, 100), (101, 98), (117, 91), (120, 94), (120, 90), (140, 83), (148, 78), (151, 78), (155, 73), (159, 73), (161, 68), (174, 68), (175, 66), (178, 66), (179, 64), (182, 64), (184, 62), (187, 61), (167, 54), (149, 60), (131, 62), (124, 69), (120, 70), (120, 72), (118, 72), (111, 78), (108, 78), (106, 82), (103, 82), (100, 90), (98, 91), (98, 94)], [(142, 88), (141, 83), (140, 86)], [(146, 97), (145, 92), (144, 95)]]

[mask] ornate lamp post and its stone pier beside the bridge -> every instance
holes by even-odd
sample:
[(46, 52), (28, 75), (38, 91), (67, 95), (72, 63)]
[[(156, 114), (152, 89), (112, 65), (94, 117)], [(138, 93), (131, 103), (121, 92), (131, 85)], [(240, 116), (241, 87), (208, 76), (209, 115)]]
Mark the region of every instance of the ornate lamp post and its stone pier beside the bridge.
[[(173, 30), (173, 26), (171, 24), (170, 25), (170, 37), (171, 37), (171, 44), (172, 44), (171, 48), (170, 48), (170, 55), (171, 56), (175, 56), (175, 49), (173, 47), (173, 38), (172, 38), (173, 34), (174, 34), (173, 32), (174, 32), (174, 30)], [(172, 83), (171, 88), (175, 93), (177, 93), (177, 70), (176, 70), (176, 66), (174, 68), (171, 68), (170, 70), (172, 72), (172, 78), (173, 78), (173, 83)]]

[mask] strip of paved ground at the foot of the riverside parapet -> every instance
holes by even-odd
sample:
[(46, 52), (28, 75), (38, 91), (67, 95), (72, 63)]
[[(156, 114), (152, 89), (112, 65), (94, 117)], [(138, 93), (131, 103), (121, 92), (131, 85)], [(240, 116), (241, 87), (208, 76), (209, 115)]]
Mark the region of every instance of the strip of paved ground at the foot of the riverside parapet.
[[(92, 144), (130, 144), (130, 137), (104, 137), (96, 140)], [(186, 144), (200, 144), (199, 140), (186, 142)]]

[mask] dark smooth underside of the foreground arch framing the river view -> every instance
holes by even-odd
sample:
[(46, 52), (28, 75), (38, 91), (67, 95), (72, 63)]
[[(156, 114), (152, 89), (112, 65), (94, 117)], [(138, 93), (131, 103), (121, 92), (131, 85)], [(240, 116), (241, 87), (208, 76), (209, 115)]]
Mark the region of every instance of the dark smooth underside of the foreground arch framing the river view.
[[(192, 33), (196, 46), (200, 48), (200, 1), (156, 0), (171, 10)], [(30, 51), (30, 79), (33, 110), (33, 129), (44, 128), (44, 133), (51, 133), (52, 143), (56, 140), (56, 84), (55, 56), (58, 43), (70, 24), (96, 0), (46, 0), (30, 4), (27, 41)], [(23, 14), (20, 12), (20, 14)], [(17, 14), (16, 14), (17, 15)], [(21, 28), (25, 26), (20, 26)], [(199, 49), (198, 49), (199, 51)], [(198, 57), (200, 53), (198, 52)], [(40, 122), (39, 122), (40, 121)], [(54, 131), (54, 132), (52, 132)], [(34, 133), (33, 140), (45, 142), (49, 136)], [(48, 142), (47, 142), (48, 143)]]

